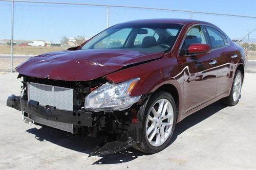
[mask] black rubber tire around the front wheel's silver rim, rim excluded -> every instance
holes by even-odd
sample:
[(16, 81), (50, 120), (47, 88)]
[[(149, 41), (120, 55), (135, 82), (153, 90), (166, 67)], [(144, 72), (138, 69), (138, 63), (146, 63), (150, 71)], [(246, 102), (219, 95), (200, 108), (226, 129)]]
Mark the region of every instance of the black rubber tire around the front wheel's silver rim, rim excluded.
[[(154, 104), (160, 99), (167, 99), (170, 102), (170, 104), (172, 104), (173, 112), (174, 112), (174, 122), (173, 122), (171, 133), (170, 133), (169, 137), (166, 139), (166, 141), (159, 147), (154, 147), (153, 145), (150, 144), (150, 142), (148, 142), (147, 137), (146, 137), (146, 130), (145, 130), (146, 129), (146, 118), (149, 113), (149, 109), (151, 109), (151, 107), (153, 107)], [(170, 95), (169, 93), (164, 92), (164, 91), (154, 93), (151, 96), (151, 98), (148, 100), (146, 109), (145, 109), (145, 112), (143, 115), (141, 141), (139, 143), (134, 143), (133, 148), (135, 148), (136, 150), (139, 150), (141, 152), (148, 153), (148, 154), (157, 153), (157, 152), (163, 150), (168, 145), (170, 139), (172, 138), (172, 135), (173, 135), (173, 132), (175, 129), (176, 119), (177, 119), (177, 109), (176, 109), (176, 105), (175, 105), (172, 95)]]

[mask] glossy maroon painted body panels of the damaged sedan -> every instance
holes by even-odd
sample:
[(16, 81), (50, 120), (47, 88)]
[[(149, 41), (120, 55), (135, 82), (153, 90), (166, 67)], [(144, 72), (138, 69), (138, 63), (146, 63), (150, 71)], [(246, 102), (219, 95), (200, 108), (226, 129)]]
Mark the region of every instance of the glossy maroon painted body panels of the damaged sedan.
[[(172, 85), (179, 95), (177, 122), (229, 95), (234, 73), (239, 65), (244, 65), (241, 47), (228, 38), (230, 46), (209, 51), (207, 45), (194, 44), (188, 50), (190, 53), (209, 53), (179, 55), (181, 43), (190, 27), (208, 25), (220, 30), (218, 27), (208, 22), (187, 19), (146, 19), (132, 22), (180, 23), (184, 26), (172, 50), (166, 54), (124, 50), (63, 51), (31, 58), (16, 70), (31, 77), (66, 81), (87, 81), (106, 75), (105, 78), (109, 81), (120, 83), (139, 77), (140, 81), (132, 90), (132, 96), (154, 92), (162, 85)], [(233, 54), (238, 57), (231, 58)], [(154, 61), (122, 69), (123, 66), (149, 60)], [(217, 64), (210, 65), (209, 62), (213, 60)]]

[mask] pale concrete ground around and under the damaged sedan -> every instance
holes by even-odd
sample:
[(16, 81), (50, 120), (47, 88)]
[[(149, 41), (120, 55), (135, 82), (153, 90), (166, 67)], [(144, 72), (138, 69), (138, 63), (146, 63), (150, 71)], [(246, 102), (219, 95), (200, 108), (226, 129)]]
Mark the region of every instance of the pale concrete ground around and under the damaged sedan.
[(89, 158), (97, 140), (29, 126), (6, 106), (19, 93), (16, 77), (0, 75), (0, 169), (256, 169), (256, 74), (246, 74), (238, 105), (216, 102), (188, 116), (163, 151)]

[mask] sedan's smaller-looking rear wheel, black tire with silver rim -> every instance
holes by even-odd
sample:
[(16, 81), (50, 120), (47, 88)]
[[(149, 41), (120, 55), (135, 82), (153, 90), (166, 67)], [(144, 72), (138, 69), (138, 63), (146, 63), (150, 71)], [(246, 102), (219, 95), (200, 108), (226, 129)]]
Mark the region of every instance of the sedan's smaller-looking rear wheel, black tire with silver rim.
[[(237, 82), (236, 82), (238, 77), (240, 77), (240, 79), (241, 79), (239, 87), (237, 87)], [(222, 104), (227, 105), (227, 106), (234, 106), (234, 105), (238, 104), (240, 96), (241, 96), (242, 82), (243, 82), (243, 75), (240, 70), (237, 70), (236, 74), (234, 75), (230, 94), (226, 98), (221, 99)], [(237, 88), (239, 88), (239, 89), (237, 89)], [(239, 92), (239, 94), (237, 95), (237, 98), (233, 95), (234, 92), (236, 92), (236, 90), (238, 90), (237, 92)]]

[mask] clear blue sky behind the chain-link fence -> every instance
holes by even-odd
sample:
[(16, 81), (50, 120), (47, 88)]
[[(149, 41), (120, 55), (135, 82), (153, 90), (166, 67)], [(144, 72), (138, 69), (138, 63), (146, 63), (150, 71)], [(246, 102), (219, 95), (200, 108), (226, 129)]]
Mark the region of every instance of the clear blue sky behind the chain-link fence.
[[(35, 0), (34, 0), (35, 1)], [(256, 1), (135, 1), (135, 0), (44, 0), (44, 2), (123, 5), (150, 8), (178, 9), (200, 12), (256, 16)], [(106, 8), (78, 5), (15, 3), (14, 39), (59, 42), (62, 36), (91, 37), (106, 28)], [(131, 8), (110, 8), (109, 25), (145, 18), (190, 18), (189, 13)], [(193, 19), (204, 20), (220, 27), (231, 39), (240, 39), (256, 28), (256, 19), (193, 14)], [(0, 40), (11, 37), (11, 3), (0, 1)], [(254, 33), (255, 32), (255, 33)], [(256, 38), (254, 31), (250, 38)]]

